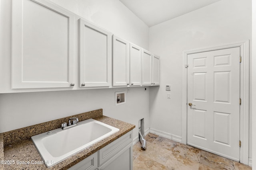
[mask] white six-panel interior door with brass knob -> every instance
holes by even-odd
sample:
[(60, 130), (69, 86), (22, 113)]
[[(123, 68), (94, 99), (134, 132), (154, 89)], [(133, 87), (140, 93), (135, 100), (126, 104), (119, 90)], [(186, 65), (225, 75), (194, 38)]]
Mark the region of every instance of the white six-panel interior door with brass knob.
[(240, 47), (189, 54), (188, 145), (239, 161), (239, 99)]

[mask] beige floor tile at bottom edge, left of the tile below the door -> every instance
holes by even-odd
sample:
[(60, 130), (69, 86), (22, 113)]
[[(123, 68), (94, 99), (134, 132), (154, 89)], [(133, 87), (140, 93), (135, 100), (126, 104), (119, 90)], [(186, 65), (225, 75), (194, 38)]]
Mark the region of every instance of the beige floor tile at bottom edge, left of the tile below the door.
[(174, 155), (170, 155), (165, 166), (172, 170), (198, 170), (199, 162), (194, 162), (186, 158), (177, 158)]

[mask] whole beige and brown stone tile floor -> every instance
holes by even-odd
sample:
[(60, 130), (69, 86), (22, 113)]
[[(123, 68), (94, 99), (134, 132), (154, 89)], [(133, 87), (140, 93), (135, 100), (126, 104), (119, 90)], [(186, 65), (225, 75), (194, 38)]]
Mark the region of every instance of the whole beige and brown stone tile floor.
[(133, 146), (133, 170), (251, 170), (250, 166), (149, 133)]

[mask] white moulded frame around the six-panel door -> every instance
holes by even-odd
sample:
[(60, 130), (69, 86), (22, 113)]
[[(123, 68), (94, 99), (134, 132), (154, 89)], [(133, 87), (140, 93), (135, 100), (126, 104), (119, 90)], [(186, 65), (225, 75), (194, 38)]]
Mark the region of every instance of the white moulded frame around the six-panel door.
[[(239, 160), (241, 163), (248, 165), (249, 158), (249, 40), (240, 43), (232, 43), (229, 45), (221, 45), (208, 47), (203, 49), (192, 49), (183, 51), (182, 66), (182, 143), (187, 144), (187, 57), (189, 54), (202, 53), (206, 51), (214, 51), (240, 47), (240, 55), (242, 62), (240, 64), (240, 147)], [(237, 144), (239, 145), (239, 144)]]

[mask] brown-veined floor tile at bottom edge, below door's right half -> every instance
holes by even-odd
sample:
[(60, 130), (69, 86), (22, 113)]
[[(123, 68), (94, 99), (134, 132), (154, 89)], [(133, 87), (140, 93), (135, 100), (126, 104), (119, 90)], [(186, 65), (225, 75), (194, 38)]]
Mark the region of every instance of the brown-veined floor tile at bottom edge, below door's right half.
[(204, 150), (201, 151), (200, 163), (211, 168), (220, 170), (235, 170), (233, 162), (234, 161), (228, 158), (224, 158), (222, 156), (218, 156)]

